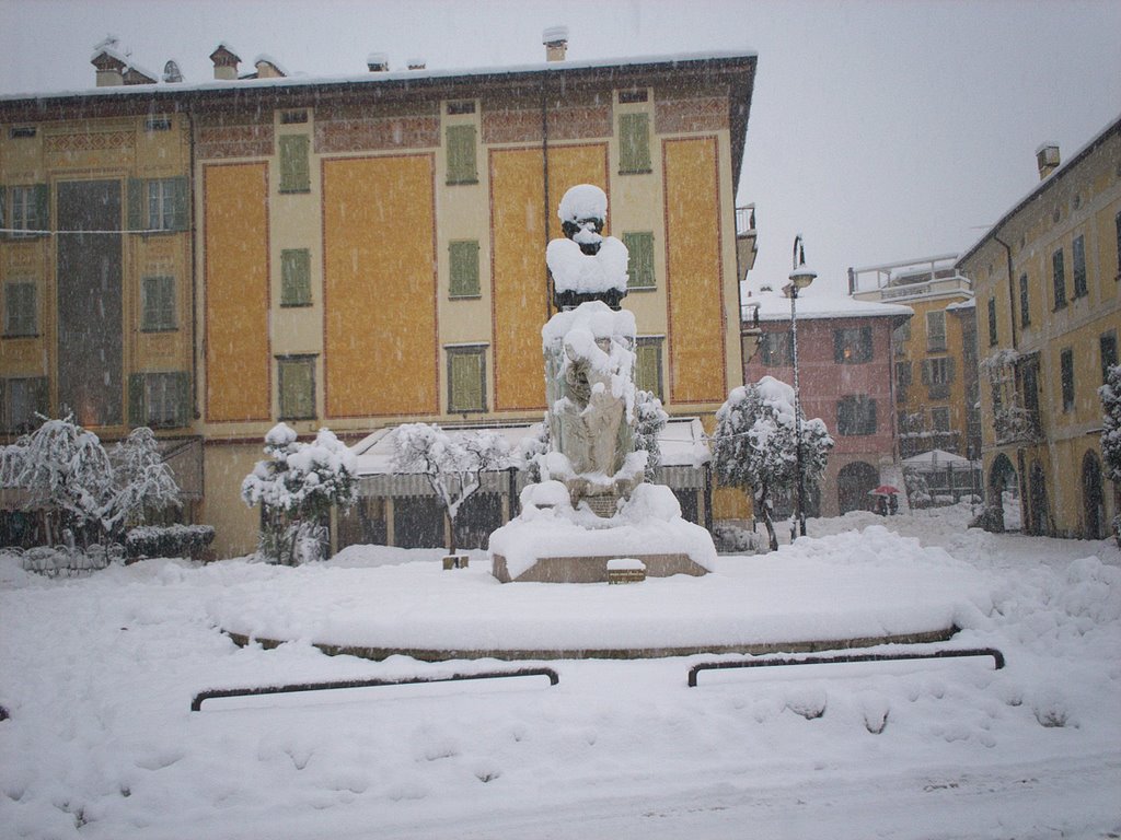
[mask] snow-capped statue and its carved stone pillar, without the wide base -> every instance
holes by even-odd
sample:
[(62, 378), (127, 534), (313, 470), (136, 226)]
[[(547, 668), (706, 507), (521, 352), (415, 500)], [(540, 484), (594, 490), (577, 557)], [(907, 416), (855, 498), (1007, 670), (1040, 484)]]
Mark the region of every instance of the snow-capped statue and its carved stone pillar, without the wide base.
[(589, 184), (562, 198), (565, 239), (545, 253), (562, 311), (541, 330), (552, 438), (544, 472), (567, 485), (574, 507), (586, 500), (601, 515), (630, 497), (646, 461), (633, 440), (634, 316), (619, 308), (627, 246), (602, 235), (606, 211), (603, 190)]

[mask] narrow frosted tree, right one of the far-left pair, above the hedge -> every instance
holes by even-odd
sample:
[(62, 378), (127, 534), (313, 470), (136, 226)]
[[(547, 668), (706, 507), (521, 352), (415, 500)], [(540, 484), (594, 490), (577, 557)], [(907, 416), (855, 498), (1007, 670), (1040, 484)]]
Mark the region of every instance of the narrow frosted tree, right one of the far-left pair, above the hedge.
[(179, 485), (164, 461), (151, 429), (141, 426), (113, 447), (115, 492), (105, 512), (105, 528), (117, 534), (122, 529), (143, 525), (148, 514), (179, 507)]

